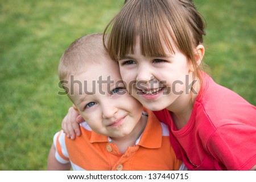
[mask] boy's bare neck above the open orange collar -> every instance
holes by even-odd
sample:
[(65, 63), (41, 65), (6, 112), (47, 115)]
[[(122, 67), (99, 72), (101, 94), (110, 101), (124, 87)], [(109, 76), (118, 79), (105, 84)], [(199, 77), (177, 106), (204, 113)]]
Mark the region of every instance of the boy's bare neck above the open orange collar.
[(111, 139), (115, 143), (115, 145), (117, 145), (118, 150), (122, 154), (124, 154), (129, 146), (135, 145), (135, 142), (143, 133), (146, 125), (147, 125), (147, 116), (142, 115), (138, 124), (135, 126), (135, 128), (129, 135), (121, 138), (111, 138)]

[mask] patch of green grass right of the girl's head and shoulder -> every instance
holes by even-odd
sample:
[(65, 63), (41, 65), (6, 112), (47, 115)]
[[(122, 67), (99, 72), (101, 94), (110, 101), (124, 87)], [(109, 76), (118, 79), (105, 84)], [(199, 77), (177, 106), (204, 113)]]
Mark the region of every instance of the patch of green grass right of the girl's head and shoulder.
[(207, 20), (204, 61), (213, 79), (256, 104), (256, 1), (196, 1)]

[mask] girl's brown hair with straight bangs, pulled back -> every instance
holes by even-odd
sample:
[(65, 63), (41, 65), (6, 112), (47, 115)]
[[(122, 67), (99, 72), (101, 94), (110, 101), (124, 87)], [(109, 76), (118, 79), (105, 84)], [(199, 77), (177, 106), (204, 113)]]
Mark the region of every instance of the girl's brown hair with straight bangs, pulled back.
[(204, 28), (204, 19), (192, 1), (128, 0), (104, 31), (105, 48), (113, 60), (118, 60), (134, 53), (135, 37), (139, 35), (144, 56), (164, 56), (163, 41), (174, 53), (171, 37), (200, 79), (194, 49), (203, 43)]

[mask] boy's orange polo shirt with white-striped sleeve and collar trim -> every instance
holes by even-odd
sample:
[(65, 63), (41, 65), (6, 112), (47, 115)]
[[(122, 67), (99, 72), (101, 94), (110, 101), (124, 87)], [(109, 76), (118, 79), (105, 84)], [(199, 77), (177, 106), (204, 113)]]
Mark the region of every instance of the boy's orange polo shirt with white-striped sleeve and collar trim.
[(167, 125), (159, 122), (151, 111), (141, 137), (125, 154), (118, 151), (109, 137), (93, 132), (86, 122), (80, 124), (81, 136), (68, 139), (63, 131), (55, 134), (56, 159), (71, 162), (73, 170), (179, 170), (170, 144)]

